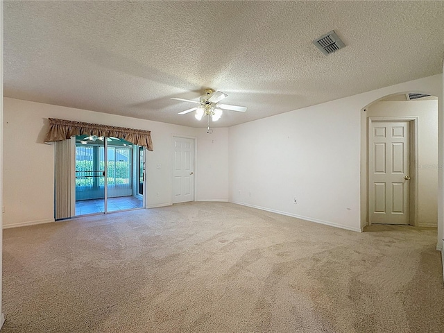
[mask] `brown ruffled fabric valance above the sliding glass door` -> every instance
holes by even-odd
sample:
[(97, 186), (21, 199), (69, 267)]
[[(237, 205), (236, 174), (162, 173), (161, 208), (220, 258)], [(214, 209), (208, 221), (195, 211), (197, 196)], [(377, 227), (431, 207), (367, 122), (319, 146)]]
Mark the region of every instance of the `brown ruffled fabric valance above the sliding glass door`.
[(98, 137), (118, 137), (132, 144), (144, 146), (153, 151), (151, 130), (135, 130), (133, 128), (83, 123), (64, 119), (49, 118), (49, 130), (44, 142), (62, 141), (73, 135), (96, 135)]

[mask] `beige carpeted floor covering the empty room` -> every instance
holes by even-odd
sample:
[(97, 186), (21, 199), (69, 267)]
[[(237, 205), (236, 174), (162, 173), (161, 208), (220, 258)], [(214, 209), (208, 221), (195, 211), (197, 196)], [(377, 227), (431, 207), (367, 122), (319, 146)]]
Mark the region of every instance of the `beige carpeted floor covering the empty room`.
[(1, 332), (444, 332), (436, 230), (230, 203), (3, 232)]

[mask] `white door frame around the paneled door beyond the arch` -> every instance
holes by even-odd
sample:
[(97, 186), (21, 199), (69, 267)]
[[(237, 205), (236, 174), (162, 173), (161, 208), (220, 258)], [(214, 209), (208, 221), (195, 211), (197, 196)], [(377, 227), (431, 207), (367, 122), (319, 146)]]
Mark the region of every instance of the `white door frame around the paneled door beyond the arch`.
[(407, 121), (409, 122), (410, 129), (410, 170), (409, 175), (411, 177), (409, 188), (409, 225), (418, 225), (418, 117), (367, 117), (367, 193), (366, 193), (366, 206), (367, 206), (367, 225), (370, 223), (370, 128), (372, 123), (375, 122), (395, 122), (395, 121)]

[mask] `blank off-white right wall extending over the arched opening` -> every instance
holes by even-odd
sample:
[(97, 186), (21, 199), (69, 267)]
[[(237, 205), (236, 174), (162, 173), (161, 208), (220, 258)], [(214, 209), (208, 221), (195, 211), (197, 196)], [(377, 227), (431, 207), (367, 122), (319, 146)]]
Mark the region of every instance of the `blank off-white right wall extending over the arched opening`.
[[(384, 96), (441, 96), (442, 74), (230, 128), (230, 201), (360, 231), (366, 223), (366, 116)], [(297, 203), (294, 203), (296, 198)]]

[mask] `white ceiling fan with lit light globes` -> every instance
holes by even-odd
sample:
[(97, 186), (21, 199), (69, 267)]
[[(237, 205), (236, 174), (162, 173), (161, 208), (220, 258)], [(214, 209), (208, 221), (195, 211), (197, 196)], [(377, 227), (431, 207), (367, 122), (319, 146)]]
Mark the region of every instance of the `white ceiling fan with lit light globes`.
[(179, 99), (178, 97), (172, 97), (176, 101), (184, 101), (189, 103), (197, 104), (194, 108), (179, 112), (178, 114), (187, 114), (189, 112), (196, 111), (197, 120), (202, 119), (204, 115), (208, 117), (208, 121), (210, 121), (210, 117), (212, 117), (212, 121), (219, 120), (222, 115), (222, 110), (230, 110), (237, 112), (246, 112), (247, 108), (244, 106), (237, 105), (228, 105), (219, 103), (228, 95), (223, 92), (214, 92), (213, 89), (205, 89), (205, 94), (200, 96), (199, 101), (191, 101), (190, 99)]

